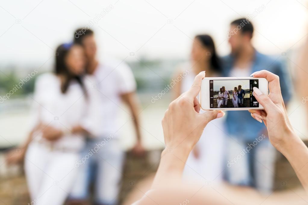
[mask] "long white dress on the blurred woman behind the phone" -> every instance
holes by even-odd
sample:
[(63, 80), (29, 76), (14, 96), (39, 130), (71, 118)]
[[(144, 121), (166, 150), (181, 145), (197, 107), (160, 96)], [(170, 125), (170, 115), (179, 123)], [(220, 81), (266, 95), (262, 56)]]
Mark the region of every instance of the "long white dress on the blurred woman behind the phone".
[[(191, 70), (189, 71), (190, 73), (181, 81), (182, 93), (191, 87), (196, 76), (196, 74)], [(197, 98), (199, 98), (199, 95)], [(206, 111), (200, 110), (200, 113), (202, 112)], [(224, 124), (224, 118), (212, 120), (207, 124), (200, 140), (195, 146), (199, 150), (199, 158), (196, 159), (193, 156), (193, 151), (189, 154), (184, 167), (184, 179), (193, 179), (207, 184), (220, 183), (222, 181), (222, 172), (224, 171), (223, 160), (225, 154)]]

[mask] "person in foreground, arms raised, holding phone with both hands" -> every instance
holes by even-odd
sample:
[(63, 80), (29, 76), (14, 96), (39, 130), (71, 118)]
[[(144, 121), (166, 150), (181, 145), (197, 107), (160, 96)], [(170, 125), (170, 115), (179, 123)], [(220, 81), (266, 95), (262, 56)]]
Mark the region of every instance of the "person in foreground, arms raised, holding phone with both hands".
[[(258, 88), (253, 88), (254, 96), (265, 109), (249, 110), (250, 115), (257, 121), (263, 120), (268, 130), (270, 143), (290, 162), (306, 194), (298, 194), (298, 191), (295, 193), (292, 190), (260, 195), (254, 190), (243, 187), (205, 186), (203, 183), (181, 182), (185, 162), (203, 130), (212, 120), (224, 116), (221, 111), (199, 113), (200, 104), (197, 96), (201, 89), (202, 78), (205, 77), (205, 72), (201, 72), (196, 76), (191, 88), (169, 104), (162, 120), (166, 147), (161, 154), (159, 168), (151, 189), (139, 201), (133, 203), (134, 205), (307, 203), (308, 148), (290, 124), (282, 99), (279, 77), (267, 70), (261, 70), (252, 75), (253, 77), (265, 77), (270, 82), (271, 93), (266, 95)], [(284, 120), (281, 120), (282, 118)]]

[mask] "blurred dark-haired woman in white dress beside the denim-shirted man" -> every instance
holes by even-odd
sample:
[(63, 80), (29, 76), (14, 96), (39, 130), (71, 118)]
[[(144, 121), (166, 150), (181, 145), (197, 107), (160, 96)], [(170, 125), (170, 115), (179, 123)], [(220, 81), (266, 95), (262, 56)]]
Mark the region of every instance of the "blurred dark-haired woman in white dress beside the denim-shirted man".
[[(203, 34), (194, 38), (191, 62), (185, 66), (186, 68), (179, 69), (175, 76), (175, 79), (180, 77), (181, 80), (174, 86), (174, 99), (190, 88), (195, 76), (201, 71), (206, 71), (207, 77), (219, 77), (221, 75), (221, 62), (211, 36)], [(222, 97), (224, 97), (224, 94)], [(218, 99), (218, 105), (222, 101), (223, 98)], [(204, 111), (201, 110), (200, 112), (203, 113)], [(214, 179), (215, 182), (221, 181), (225, 141), (224, 123), (224, 120), (221, 119), (214, 120), (205, 128), (200, 141), (188, 157), (184, 169), (184, 178), (193, 176), (196, 180), (206, 180), (208, 183)], [(215, 138), (213, 138), (213, 133), (215, 133)]]

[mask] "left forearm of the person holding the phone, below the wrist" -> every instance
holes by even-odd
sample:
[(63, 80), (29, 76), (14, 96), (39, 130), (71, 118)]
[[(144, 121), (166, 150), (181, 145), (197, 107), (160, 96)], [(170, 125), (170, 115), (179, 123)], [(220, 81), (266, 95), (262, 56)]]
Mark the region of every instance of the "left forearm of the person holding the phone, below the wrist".
[(189, 148), (165, 148), (161, 153), (160, 164), (152, 183), (152, 189), (161, 187), (162, 182), (164, 184), (179, 183), (190, 151)]

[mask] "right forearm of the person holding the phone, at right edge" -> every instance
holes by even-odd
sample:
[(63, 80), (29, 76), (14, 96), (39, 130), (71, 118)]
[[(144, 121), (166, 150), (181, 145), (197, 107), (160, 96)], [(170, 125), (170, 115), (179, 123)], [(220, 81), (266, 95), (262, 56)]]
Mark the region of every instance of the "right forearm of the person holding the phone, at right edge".
[(308, 192), (308, 148), (295, 133), (288, 139), (280, 152), (290, 162), (302, 186)]

